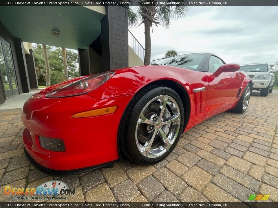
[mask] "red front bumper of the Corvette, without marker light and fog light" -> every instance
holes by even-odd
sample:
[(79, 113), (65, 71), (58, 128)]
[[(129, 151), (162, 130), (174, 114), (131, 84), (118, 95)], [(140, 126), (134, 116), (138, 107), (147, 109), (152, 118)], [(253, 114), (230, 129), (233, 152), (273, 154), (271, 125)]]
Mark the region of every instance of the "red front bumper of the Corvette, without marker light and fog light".
[[(118, 126), (133, 95), (95, 100), (88, 95), (48, 99), (36, 97), (23, 106), (23, 144), (40, 169), (67, 174), (103, 167), (119, 159)], [(112, 114), (72, 118), (72, 114), (102, 107), (117, 106)], [(65, 152), (41, 148), (39, 136), (58, 138)], [(47, 171), (46, 171), (47, 172)]]

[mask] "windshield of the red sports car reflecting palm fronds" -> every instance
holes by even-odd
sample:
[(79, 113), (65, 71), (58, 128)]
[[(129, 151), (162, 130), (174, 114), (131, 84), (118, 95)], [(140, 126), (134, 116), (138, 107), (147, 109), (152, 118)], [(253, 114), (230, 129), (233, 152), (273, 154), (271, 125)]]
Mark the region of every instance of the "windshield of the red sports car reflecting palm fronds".
[(190, 70), (196, 70), (206, 54), (204, 53), (194, 53), (194, 54), (184, 54), (178, 55), (170, 58), (166, 58), (155, 62), (153, 64), (164, 65), (164, 66), (176, 66), (180, 68), (187, 68)]

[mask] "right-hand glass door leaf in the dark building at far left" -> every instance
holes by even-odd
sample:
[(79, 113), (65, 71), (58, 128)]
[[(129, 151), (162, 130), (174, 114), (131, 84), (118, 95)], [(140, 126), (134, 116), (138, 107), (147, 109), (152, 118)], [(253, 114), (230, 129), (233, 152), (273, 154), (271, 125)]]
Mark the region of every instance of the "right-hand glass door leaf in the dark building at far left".
[[(6, 62), (6, 74), (7, 74), (5, 77), (5, 80), (3, 80), (3, 83), (5, 86), (6, 97), (10, 97), (12, 95), (19, 94), (19, 90), (18, 90), (18, 86), (17, 86), (17, 80), (16, 80), (16, 75), (15, 75), (13, 61), (12, 61), (12, 53), (11, 53), (11, 49), (10, 49), (10, 44), (6, 40), (3, 40), (2, 44), (3, 44), (2, 51), (4, 51), (4, 57), (5, 57), (5, 62)], [(1, 70), (1, 73), (2, 73), (2, 70)]]

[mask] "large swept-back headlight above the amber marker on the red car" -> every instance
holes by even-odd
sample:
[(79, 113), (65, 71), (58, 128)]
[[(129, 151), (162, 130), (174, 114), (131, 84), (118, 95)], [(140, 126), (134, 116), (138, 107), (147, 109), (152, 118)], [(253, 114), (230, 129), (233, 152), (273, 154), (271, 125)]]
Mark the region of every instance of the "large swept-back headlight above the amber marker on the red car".
[(70, 97), (95, 90), (110, 79), (115, 72), (105, 72), (79, 79), (45, 95), (47, 98)]

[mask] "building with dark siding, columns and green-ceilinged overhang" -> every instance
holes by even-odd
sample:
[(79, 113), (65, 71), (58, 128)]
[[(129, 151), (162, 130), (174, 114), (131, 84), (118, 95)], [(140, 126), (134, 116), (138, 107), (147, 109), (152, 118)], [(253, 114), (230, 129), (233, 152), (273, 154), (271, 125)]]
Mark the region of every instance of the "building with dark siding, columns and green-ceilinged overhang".
[(38, 88), (31, 43), (78, 50), (82, 76), (142, 65), (144, 48), (136, 44), (139, 54), (128, 44), (132, 34), (127, 10), (125, 6), (0, 7), (0, 104)]

